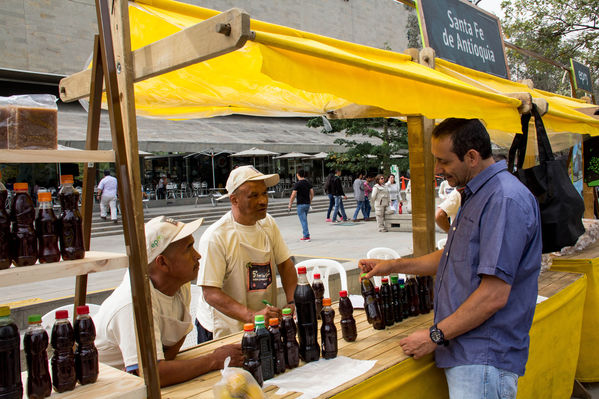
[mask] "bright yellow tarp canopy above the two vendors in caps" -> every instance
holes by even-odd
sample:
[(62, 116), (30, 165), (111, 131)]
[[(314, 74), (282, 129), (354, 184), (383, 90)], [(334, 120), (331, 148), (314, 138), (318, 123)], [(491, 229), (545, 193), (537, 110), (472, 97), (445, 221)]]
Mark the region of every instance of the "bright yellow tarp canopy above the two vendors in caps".
[[(169, 0), (130, 3), (132, 49), (218, 11)], [(520, 101), (482, 90), (403, 54), (252, 20), (240, 50), (135, 84), (140, 115), (186, 119), (233, 113), (322, 115), (350, 104), (428, 118), (481, 118), (520, 130)]]

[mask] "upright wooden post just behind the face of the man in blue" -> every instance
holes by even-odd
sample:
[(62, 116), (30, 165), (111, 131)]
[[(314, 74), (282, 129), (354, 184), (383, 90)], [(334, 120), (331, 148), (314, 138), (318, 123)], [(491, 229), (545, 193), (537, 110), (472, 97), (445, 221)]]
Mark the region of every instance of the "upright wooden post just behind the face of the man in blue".
[[(409, 50), (406, 53), (414, 57)], [(435, 51), (424, 48), (418, 62), (435, 67)], [(434, 160), (431, 137), (435, 123), (423, 116), (408, 116), (408, 146), (412, 187), (412, 241), (414, 256), (435, 250)]]

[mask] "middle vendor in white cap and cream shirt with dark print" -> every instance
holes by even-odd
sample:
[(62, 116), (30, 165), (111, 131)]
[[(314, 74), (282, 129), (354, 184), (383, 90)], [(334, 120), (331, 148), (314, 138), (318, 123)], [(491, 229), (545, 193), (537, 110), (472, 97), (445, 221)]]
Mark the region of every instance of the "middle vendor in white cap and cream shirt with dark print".
[(253, 166), (229, 174), (221, 198), (229, 198), (231, 211), (200, 238), (198, 342), (241, 331), (258, 314), (267, 320), (280, 317), (275, 266), (286, 297), (281, 305), (294, 308), (295, 266), (275, 220), (266, 213), (267, 188), (278, 182), (279, 175), (264, 175)]

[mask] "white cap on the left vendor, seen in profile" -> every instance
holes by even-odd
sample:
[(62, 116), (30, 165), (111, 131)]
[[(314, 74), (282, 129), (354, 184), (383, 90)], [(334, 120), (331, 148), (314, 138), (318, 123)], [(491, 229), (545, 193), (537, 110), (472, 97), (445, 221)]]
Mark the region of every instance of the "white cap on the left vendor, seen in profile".
[(146, 251), (148, 263), (152, 263), (172, 242), (179, 241), (195, 233), (204, 218), (191, 223), (183, 223), (166, 216), (158, 216), (146, 223)]

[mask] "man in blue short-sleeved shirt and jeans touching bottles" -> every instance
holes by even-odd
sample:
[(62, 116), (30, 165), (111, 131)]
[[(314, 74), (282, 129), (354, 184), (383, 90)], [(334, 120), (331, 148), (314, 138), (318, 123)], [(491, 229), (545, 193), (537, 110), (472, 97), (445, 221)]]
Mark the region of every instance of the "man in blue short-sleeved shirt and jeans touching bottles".
[(464, 187), (444, 250), (418, 258), (363, 259), (368, 277), (436, 275), (435, 324), (402, 339), (415, 359), (435, 351), (451, 398), (515, 398), (528, 359), (541, 266), (535, 197), (495, 163), (479, 120), (447, 119), (433, 131), (435, 174)]

